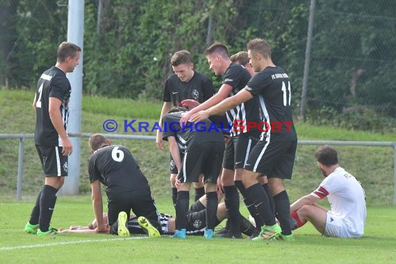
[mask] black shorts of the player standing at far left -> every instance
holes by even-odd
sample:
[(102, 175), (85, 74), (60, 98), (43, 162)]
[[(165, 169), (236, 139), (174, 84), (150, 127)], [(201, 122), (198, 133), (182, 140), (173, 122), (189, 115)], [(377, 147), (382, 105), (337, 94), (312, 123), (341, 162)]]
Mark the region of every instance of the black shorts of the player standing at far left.
[(47, 176), (67, 176), (69, 156), (63, 156), (63, 147), (39, 146), (35, 145), (41, 161), (44, 175)]

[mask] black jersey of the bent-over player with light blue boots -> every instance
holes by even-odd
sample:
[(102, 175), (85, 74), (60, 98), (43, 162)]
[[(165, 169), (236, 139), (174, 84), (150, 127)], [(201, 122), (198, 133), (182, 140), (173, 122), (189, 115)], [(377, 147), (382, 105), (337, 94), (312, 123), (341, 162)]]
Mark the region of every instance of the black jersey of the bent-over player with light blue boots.
[(163, 116), (163, 140), (174, 136), (179, 145), (179, 150), (188, 151), (193, 145), (202, 142), (221, 142), (224, 143), (224, 136), (217, 128), (216, 124), (209, 119), (201, 122), (180, 125), (181, 115), (185, 112), (170, 113)]

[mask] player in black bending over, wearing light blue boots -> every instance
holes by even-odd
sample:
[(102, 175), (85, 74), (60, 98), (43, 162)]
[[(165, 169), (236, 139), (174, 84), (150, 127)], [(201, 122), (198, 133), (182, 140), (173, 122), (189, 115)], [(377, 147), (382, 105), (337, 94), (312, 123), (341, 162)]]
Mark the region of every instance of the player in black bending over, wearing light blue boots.
[[(163, 117), (163, 139), (169, 142), (170, 152), (179, 170), (176, 178), (176, 231), (175, 238), (185, 238), (185, 223), (189, 204), (189, 190), (204, 174), (206, 193), (206, 230), (204, 238), (213, 238), (217, 211), (217, 177), (224, 154), (224, 137), (209, 119), (201, 124), (180, 125), (183, 112), (174, 108)], [(177, 112), (174, 112), (177, 111)], [(172, 113), (174, 112), (174, 113)], [(183, 152), (183, 158), (180, 157)], [(179, 186), (178, 186), (179, 185)]]

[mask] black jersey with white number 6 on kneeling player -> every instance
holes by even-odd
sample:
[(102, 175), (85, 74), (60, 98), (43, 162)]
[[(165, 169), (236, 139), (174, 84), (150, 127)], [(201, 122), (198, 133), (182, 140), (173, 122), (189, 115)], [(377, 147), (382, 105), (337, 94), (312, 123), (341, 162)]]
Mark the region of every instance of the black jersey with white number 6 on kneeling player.
[(119, 193), (150, 190), (133, 155), (124, 146), (111, 145), (94, 151), (88, 161), (90, 182), (99, 180), (106, 185), (108, 198)]

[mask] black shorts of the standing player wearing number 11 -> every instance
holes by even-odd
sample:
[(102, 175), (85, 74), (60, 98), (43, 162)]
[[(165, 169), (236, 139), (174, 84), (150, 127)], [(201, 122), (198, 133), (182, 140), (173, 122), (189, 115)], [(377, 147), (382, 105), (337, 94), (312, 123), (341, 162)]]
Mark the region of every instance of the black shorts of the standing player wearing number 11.
[(245, 170), (268, 178), (291, 179), (297, 141), (260, 141), (251, 150)]

